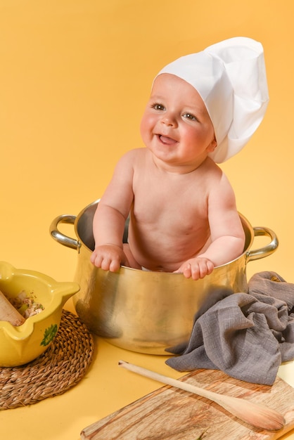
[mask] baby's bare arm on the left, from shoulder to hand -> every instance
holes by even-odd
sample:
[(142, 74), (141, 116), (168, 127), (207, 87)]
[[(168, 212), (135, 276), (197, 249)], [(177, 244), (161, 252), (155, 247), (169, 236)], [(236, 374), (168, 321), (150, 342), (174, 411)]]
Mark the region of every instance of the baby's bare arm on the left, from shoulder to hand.
[(124, 155), (115, 167), (106, 192), (98, 203), (93, 221), (95, 250), (91, 262), (103, 270), (117, 271), (129, 265), (123, 252), (124, 224), (134, 198), (132, 190), (134, 153)]

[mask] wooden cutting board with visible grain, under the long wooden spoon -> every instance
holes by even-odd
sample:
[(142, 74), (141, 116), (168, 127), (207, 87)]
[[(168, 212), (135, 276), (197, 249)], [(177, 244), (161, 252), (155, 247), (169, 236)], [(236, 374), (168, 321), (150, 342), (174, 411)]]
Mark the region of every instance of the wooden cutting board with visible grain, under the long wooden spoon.
[(219, 370), (195, 370), (179, 380), (269, 406), (284, 415), (286, 426), (277, 432), (257, 429), (217, 403), (165, 386), (84, 428), (82, 440), (275, 440), (294, 429), (294, 388), (279, 377), (271, 387)]

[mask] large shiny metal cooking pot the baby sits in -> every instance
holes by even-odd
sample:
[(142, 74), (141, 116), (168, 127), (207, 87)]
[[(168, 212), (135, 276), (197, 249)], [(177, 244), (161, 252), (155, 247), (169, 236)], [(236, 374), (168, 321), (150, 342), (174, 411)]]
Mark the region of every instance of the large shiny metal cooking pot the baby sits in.
[[(116, 273), (91, 264), (94, 250), (92, 221), (98, 200), (77, 216), (63, 214), (51, 223), (51, 236), (78, 252), (75, 282), (80, 290), (73, 297), (79, 318), (97, 335), (117, 347), (146, 354), (168, 354), (170, 347), (188, 340), (193, 318), (215, 297), (247, 292), (246, 264), (271, 254), (278, 240), (269, 228), (253, 228), (240, 214), (245, 231), (243, 254), (218, 266), (202, 280), (184, 278), (181, 273), (148, 272), (121, 266)], [(76, 238), (64, 235), (59, 224), (73, 224)], [(127, 235), (127, 224), (124, 240)], [(271, 242), (250, 250), (257, 235)]]

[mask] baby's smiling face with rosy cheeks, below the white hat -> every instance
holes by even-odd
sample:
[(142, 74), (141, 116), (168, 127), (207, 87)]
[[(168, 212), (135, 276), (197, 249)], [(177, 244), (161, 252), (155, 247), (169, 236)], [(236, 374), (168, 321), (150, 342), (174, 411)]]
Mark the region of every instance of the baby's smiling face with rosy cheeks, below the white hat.
[(189, 172), (212, 152), (217, 142), (198, 91), (175, 75), (156, 77), (141, 121), (141, 136), (162, 164)]

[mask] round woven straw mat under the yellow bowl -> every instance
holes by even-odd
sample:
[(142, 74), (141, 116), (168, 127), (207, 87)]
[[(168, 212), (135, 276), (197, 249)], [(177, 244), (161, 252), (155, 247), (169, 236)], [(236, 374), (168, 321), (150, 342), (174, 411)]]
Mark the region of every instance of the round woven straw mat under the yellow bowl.
[(63, 394), (82, 380), (93, 354), (91, 333), (63, 309), (56, 337), (41, 356), (18, 367), (0, 367), (0, 410)]

